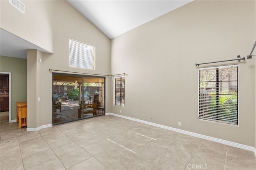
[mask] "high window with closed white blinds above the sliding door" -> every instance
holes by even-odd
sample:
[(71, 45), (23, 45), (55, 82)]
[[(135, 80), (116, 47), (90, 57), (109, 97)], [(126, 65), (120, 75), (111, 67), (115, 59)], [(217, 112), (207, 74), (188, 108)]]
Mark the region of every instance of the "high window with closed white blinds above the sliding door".
[(69, 67), (95, 69), (95, 45), (69, 39)]

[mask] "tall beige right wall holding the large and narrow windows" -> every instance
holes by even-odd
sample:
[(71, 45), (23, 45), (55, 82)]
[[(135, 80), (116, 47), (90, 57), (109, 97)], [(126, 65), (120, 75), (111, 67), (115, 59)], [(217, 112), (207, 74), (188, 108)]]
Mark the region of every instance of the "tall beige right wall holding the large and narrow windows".
[(247, 56), (256, 35), (255, 3), (194, 1), (112, 39), (111, 73), (127, 75), (125, 107), (110, 111), (254, 146), (254, 59), (202, 65), (239, 64), (238, 126), (198, 120), (195, 63)]

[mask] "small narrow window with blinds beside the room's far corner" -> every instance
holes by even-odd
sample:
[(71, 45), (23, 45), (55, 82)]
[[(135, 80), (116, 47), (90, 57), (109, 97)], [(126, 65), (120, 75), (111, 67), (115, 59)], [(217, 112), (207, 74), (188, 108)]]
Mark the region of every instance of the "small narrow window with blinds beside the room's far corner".
[(125, 79), (124, 77), (115, 77), (115, 101), (117, 106), (124, 106), (124, 89)]

